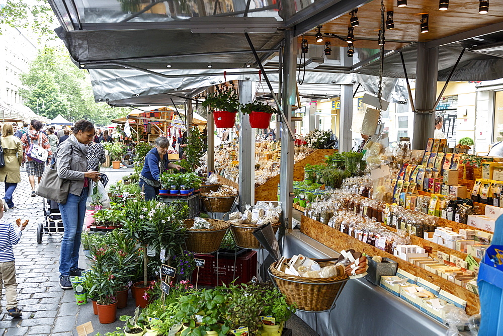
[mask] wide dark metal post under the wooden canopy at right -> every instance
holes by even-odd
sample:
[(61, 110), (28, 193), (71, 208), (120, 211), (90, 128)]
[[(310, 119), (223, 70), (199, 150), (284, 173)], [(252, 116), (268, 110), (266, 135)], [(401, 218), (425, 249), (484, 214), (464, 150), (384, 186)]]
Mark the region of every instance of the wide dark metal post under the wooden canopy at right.
[(425, 43), (417, 43), (415, 85), (414, 131), (412, 147), (423, 149), (428, 138), (433, 138), (435, 115), (432, 112), (437, 99), (439, 48), (425, 49)]

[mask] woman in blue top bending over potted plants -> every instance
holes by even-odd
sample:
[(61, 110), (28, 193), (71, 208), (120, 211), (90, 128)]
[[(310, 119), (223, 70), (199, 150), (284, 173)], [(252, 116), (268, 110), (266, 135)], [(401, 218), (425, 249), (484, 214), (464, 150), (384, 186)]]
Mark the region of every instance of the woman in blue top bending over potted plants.
[(159, 194), (160, 174), (168, 169), (174, 168), (178, 171), (182, 166), (170, 163), (167, 158), (167, 150), (170, 147), (170, 140), (159, 136), (155, 139), (155, 147), (145, 156), (145, 163), (140, 175), (140, 188), (145, 193), (145, 200), (152, 200)]

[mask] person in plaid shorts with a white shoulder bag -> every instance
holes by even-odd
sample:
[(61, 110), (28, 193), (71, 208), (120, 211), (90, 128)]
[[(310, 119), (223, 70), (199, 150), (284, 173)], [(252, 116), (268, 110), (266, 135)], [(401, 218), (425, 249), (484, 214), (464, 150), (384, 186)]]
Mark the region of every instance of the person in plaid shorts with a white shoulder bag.
[[(44, 167), (46, 162), (36, 162), (31, 157), (27, 155), (28, 150), (31, 145), (38, 145), (43, 149), (47, 150), (47, 162), (51, 162), (52, 160), (52, 150), (51, 144), (49, 143), (49, 139), (47, 135), (40, 132), (42, 128), (42, 123), (38, 120), (32, 120), (30, 123), (31, 130), (28, 133), (23, 134), (21, 138), (21, 143), (23, 144), (24, 151), (24, 162), (26, 163), (26, 173), (28, 173), (28, 179), (30, 180), (30, 185), (32, 187), (32, 197), (35, 197), (35, 176), (38, 179), (38, 183), (40, 183), (40, 179), (42, 178), (42, 174), (44, 173)], [(28, 139), (28, 137), (30, 137)]]

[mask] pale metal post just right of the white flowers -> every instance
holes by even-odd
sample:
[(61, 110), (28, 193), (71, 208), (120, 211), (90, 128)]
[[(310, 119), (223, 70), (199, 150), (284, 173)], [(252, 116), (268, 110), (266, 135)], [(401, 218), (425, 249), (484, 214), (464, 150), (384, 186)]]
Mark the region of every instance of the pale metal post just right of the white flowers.
[[(341, 66), (351, 66), (345, 48), (340, 48)], [(341, 109), (339, 110), (339, 151), (349, 152), (353, 147), (353, 84), (341, 85)]]

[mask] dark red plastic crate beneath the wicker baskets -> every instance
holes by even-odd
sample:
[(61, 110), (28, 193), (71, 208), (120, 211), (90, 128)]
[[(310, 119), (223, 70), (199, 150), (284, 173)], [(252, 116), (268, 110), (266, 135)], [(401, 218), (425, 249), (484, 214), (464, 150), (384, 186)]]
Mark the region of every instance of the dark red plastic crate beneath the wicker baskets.
[[(198, 285), (217, 286), (217, 258), (213, 255), (194, 255), (198, 259), (204, 259), (204, 267), (199, 269)], [(250, 250), (237, 256), (235, 269), (236, 284), (247, 283), (257, 275), (257, 251)], [(218, 281), (221, 285), (229, 284), (234, 280), (234, 258), (218, 258)], [(195, 284), (197, 270), (192, 274), (192, 282)]]

